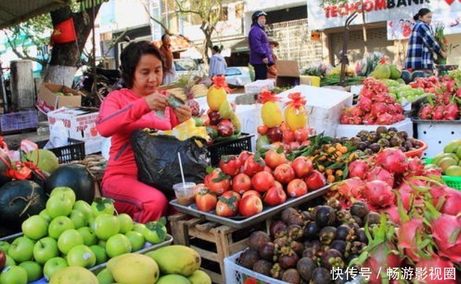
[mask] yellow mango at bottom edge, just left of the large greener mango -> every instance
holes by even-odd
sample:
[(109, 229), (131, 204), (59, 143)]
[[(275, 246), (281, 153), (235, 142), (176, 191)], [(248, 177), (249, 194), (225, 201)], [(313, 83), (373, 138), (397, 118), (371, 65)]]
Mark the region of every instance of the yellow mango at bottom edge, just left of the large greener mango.
[(157, 263), (142, 254), (122, 254), (110, 259), (107, 268), (116, 282), (123, 284), (154, 284), (160, 271)]

